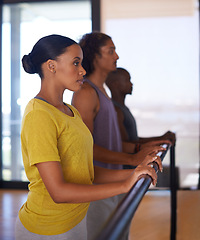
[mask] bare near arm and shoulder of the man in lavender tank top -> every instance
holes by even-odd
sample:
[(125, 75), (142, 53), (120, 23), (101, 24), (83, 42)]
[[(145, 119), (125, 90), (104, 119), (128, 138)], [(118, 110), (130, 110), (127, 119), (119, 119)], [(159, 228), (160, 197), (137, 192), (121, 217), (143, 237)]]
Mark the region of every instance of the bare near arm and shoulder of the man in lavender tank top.
[[(88, 83), (84, 83), (82, 88), (74, 93), (72, 105), (78, 109), (84, 123), (93, 134), (94, 119), (99, 111), (99, 98), (96, 91)], [(128, 154), (110, 151), (94, 144), (94, 158), (105, 163), (137, 166), (148, 154), (159, 150), (162, 151), (163, 148), (155, 146), (141, 150), (137, 154)], [(134, 149), (132, 152), (134, 152)]]

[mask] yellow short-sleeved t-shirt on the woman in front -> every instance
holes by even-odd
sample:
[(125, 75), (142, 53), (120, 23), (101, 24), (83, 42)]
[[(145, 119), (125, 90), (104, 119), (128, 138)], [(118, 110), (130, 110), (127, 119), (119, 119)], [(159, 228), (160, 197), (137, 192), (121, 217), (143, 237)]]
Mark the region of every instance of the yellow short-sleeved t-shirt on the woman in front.
[(55, 203), (35, 166), (39, 162), (58, 161), (66, 182), (92, 184), (93, 138), (78, 111), (68, 106), (73, 117), (43, 100), (32, 99), (22, 120), (21, 148), (30, 184), (19, 218), (26, 229), (36, 234), (69, 231), (85, 217), (89, 207), (89, 203)]

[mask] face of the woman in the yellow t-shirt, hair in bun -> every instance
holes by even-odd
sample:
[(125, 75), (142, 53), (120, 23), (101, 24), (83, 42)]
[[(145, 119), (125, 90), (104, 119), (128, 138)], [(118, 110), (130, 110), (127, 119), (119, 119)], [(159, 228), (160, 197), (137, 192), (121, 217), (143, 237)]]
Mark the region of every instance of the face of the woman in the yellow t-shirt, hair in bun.
[(81, 63), (83, 52), (78, 44), (66, 48), (66, 51), (56, 60), (56, 82), (64, 89), (77, 91), (83, 84), (86, 74)]

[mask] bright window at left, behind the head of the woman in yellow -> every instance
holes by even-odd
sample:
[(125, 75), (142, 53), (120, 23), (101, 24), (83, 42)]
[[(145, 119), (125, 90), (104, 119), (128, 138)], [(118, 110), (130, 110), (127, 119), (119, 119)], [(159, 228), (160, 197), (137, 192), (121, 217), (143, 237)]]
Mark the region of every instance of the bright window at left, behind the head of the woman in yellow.
[[(3, 5), (2, 26), (2, 178), (26, 181), (20, 128), (27, 102), (40, 88), (37, 75), (26, 74), (21, 58), (43, 36), (61, 34), (78, 41), (91, 32), (90, 1), (55, 1)], [(65, 93), (70, 102), (71, 92)]]

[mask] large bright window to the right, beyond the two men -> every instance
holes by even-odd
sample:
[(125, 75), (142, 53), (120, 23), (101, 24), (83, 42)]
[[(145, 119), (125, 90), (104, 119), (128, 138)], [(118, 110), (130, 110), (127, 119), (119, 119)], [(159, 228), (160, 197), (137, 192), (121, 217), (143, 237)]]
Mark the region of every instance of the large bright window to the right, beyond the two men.
[[(199, 12), (197, 1), (102, 0), (102, 31), (134, 83), (126, 104), (141, 137), (176, 132), (180, 186), (199, 171)], [(163, 164), (169, 164), (165, 159)]]

